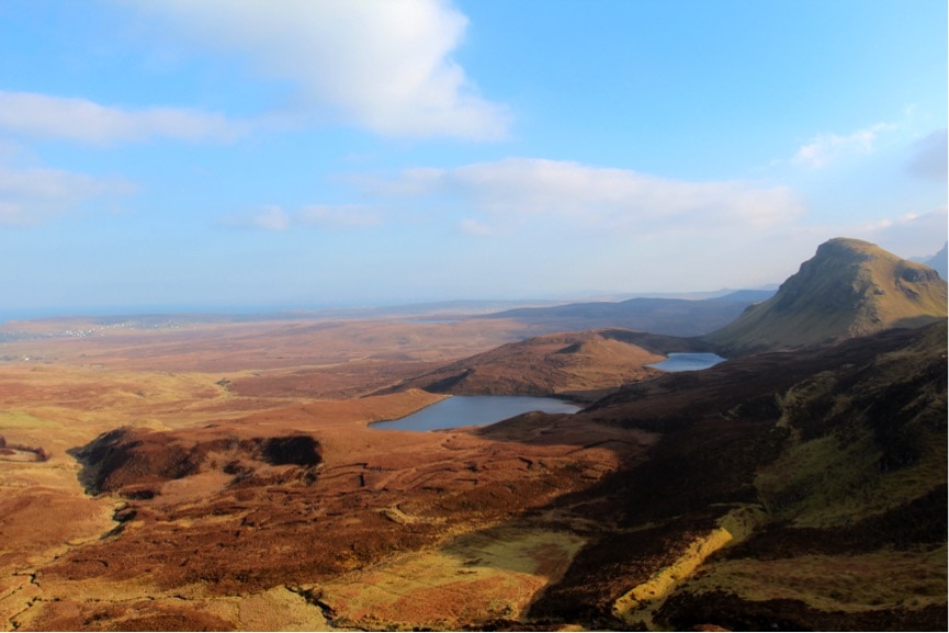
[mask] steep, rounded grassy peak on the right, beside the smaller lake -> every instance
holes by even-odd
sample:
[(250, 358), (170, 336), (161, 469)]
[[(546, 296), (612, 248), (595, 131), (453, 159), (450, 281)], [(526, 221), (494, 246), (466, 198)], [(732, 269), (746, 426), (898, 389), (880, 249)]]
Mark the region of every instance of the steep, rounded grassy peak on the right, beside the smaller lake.
[(823, 344), (947, 316), (946, 281), (877, 245), (832, 239), (768, 301), (703, 338), (724, 355)]

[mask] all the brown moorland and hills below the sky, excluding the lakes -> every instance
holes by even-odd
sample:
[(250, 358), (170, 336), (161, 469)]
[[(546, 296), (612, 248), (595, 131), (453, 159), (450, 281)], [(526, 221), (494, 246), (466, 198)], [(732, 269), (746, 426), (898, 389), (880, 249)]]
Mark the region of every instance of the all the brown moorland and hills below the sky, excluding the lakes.
[[(832, 240), (702, 304), (3, 324), (0, 622), (945, 629), (946, 282)], [(453, 394), (585, 408), (371, 428)]]

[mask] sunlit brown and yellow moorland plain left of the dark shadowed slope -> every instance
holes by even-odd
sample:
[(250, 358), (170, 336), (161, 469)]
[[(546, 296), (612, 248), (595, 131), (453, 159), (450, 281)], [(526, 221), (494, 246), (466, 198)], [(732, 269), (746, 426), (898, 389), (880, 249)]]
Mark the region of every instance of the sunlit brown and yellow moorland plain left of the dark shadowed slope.
[(533, 442), (379, 431), (366, 425), (444, 396), (351, 397), (510, 332), (212, 323), (3, 343), (0, 433), (49, 460), (0, 463), (0, 621), (318, 630), (519, 617), (585, 542), (574, 519), (522, 512), (640, 459), (653, 434), (569, 418)]

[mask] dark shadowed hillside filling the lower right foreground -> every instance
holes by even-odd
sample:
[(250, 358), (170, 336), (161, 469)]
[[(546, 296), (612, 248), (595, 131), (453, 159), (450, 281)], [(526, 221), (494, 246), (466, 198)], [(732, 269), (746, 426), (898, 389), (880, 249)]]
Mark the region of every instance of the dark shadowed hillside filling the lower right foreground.
[[(618, 630), (945, 630), (945, 324), (735, 359), (576, 414), (660, 436), (554, 504), (589, 544), (530, 615)], [(544, 417), (481, 431), (541, 433)], [(719, 630), (719, 629), (704, 629)]]

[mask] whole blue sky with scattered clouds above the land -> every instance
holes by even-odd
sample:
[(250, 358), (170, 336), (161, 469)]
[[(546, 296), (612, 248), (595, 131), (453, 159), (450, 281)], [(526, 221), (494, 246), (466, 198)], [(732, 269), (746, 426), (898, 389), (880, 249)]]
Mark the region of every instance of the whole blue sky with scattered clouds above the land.
[(2, 0), (0, 314), (777, 284), (947, 239), (944, 0)]

